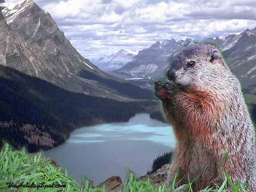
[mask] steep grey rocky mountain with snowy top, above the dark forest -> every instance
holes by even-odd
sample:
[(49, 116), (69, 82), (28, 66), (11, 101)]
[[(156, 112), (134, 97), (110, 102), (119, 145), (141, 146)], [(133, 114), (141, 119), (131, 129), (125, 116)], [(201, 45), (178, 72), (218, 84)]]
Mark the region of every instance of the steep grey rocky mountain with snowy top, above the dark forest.
[[(1, 65), (76, 93), (123, 101), (154, 98), (147, 90), (102, 72), (82, 57), (51, 15), (32, 0), (2, 3), (1, 6)], [(134, 88), (133, 95), (123, 91), (125, 85)]]

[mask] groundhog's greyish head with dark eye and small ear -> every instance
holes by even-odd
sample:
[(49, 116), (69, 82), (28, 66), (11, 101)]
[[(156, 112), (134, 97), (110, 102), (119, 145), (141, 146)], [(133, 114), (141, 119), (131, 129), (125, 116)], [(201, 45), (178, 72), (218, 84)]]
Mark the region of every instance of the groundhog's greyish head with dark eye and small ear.
[(221, 73), (226, 69), (224, 59), (213, 45), (192, 44), (170, 58), (166, 75), (168, 80), (183, 86), (212, 85), (224, 76)]

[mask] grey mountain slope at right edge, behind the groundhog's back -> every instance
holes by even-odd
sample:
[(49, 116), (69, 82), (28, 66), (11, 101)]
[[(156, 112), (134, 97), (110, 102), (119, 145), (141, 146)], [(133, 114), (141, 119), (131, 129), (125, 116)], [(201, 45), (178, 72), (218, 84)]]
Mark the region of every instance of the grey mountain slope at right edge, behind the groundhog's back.
[(256, 124), (256, 27), (225, 37), (224, 58), (241, 82), (251, 119)]

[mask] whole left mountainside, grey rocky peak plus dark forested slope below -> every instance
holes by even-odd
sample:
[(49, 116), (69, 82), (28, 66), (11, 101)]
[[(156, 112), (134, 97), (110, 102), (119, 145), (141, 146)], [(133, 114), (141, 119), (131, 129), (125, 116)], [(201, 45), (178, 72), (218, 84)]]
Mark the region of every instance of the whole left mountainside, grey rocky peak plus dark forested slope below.
[(1, 141), (36, 152), (63, 143), (75, 128), (159, 110), (152, 91), (82, 57), (34, 1), (0, 8)]

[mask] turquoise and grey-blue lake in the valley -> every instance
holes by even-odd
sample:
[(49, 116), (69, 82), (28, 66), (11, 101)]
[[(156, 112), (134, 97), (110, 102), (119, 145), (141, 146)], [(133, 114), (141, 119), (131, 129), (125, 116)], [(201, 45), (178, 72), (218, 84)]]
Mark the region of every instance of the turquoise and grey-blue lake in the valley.
[(112, 176), (126, 179), (127, 170), (142, 176), (154, 159), (175, 147), (170, 124), (137, 114), (125, 123), (106, 123), (73, 131), (64, 144), (43, 152), (81, 184), (94, 185)]

